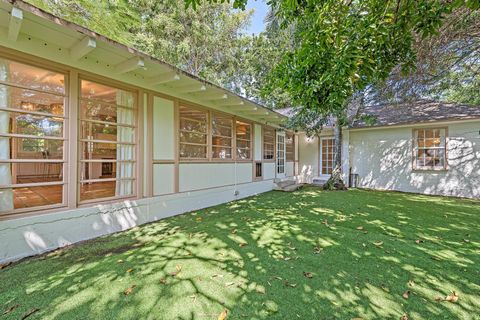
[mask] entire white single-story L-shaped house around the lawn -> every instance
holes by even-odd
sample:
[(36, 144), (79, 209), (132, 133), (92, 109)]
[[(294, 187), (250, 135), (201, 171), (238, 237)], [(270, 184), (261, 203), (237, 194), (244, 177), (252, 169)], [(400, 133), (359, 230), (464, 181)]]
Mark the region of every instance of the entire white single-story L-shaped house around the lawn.
[[(455, 116), (439, 104), (363, 110), (378, 115), (373, 126), (344, 129), (345, 179), (480, 197), (480, 113), (464, 108)], [(331, 128), (310, 138), (283, 130), (285, 119), (28, 3), (1, 0), (0, 263), (270, 191), (279, 180), (328, 177)]]

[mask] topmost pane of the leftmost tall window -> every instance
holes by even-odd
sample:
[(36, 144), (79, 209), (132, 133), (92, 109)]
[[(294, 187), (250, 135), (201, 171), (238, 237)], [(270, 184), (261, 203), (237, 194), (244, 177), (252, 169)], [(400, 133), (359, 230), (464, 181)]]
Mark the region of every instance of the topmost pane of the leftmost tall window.
[(50, 70), (0, 58), (0, 80), (36, 90), (65, 93), (65, 76)]

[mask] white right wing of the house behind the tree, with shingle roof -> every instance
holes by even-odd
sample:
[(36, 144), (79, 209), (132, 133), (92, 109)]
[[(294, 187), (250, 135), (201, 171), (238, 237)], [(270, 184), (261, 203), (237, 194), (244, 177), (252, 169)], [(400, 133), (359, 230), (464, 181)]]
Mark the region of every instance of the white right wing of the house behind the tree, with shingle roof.
[[(480, 198), (480, 107), (419, 102), (376, 106), (343, 129), (344, 180), (359, 188)], [(300, 135), (299, 174), (328, 179), (333, 130)], [(326, 150), (326, 152), (325, 152)]]

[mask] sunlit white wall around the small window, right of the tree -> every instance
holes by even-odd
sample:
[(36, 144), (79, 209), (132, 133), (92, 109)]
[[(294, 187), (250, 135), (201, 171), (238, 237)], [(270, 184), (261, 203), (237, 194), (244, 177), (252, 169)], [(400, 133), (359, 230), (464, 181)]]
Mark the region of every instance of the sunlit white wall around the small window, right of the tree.
[(480, 121), (447, 126), (446, 171), (412, 170), (413, 127), (350, 131), (359, 187), (479, 198)]

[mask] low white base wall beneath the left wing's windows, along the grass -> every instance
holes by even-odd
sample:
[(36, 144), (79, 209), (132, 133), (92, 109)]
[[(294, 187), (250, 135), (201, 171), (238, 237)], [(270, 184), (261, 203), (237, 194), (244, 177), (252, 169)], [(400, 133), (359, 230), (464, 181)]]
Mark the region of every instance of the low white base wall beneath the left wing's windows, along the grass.
[(0, 264), (272, 188), (271, 180), (250, 182), (4, 220), (0, 223)]

